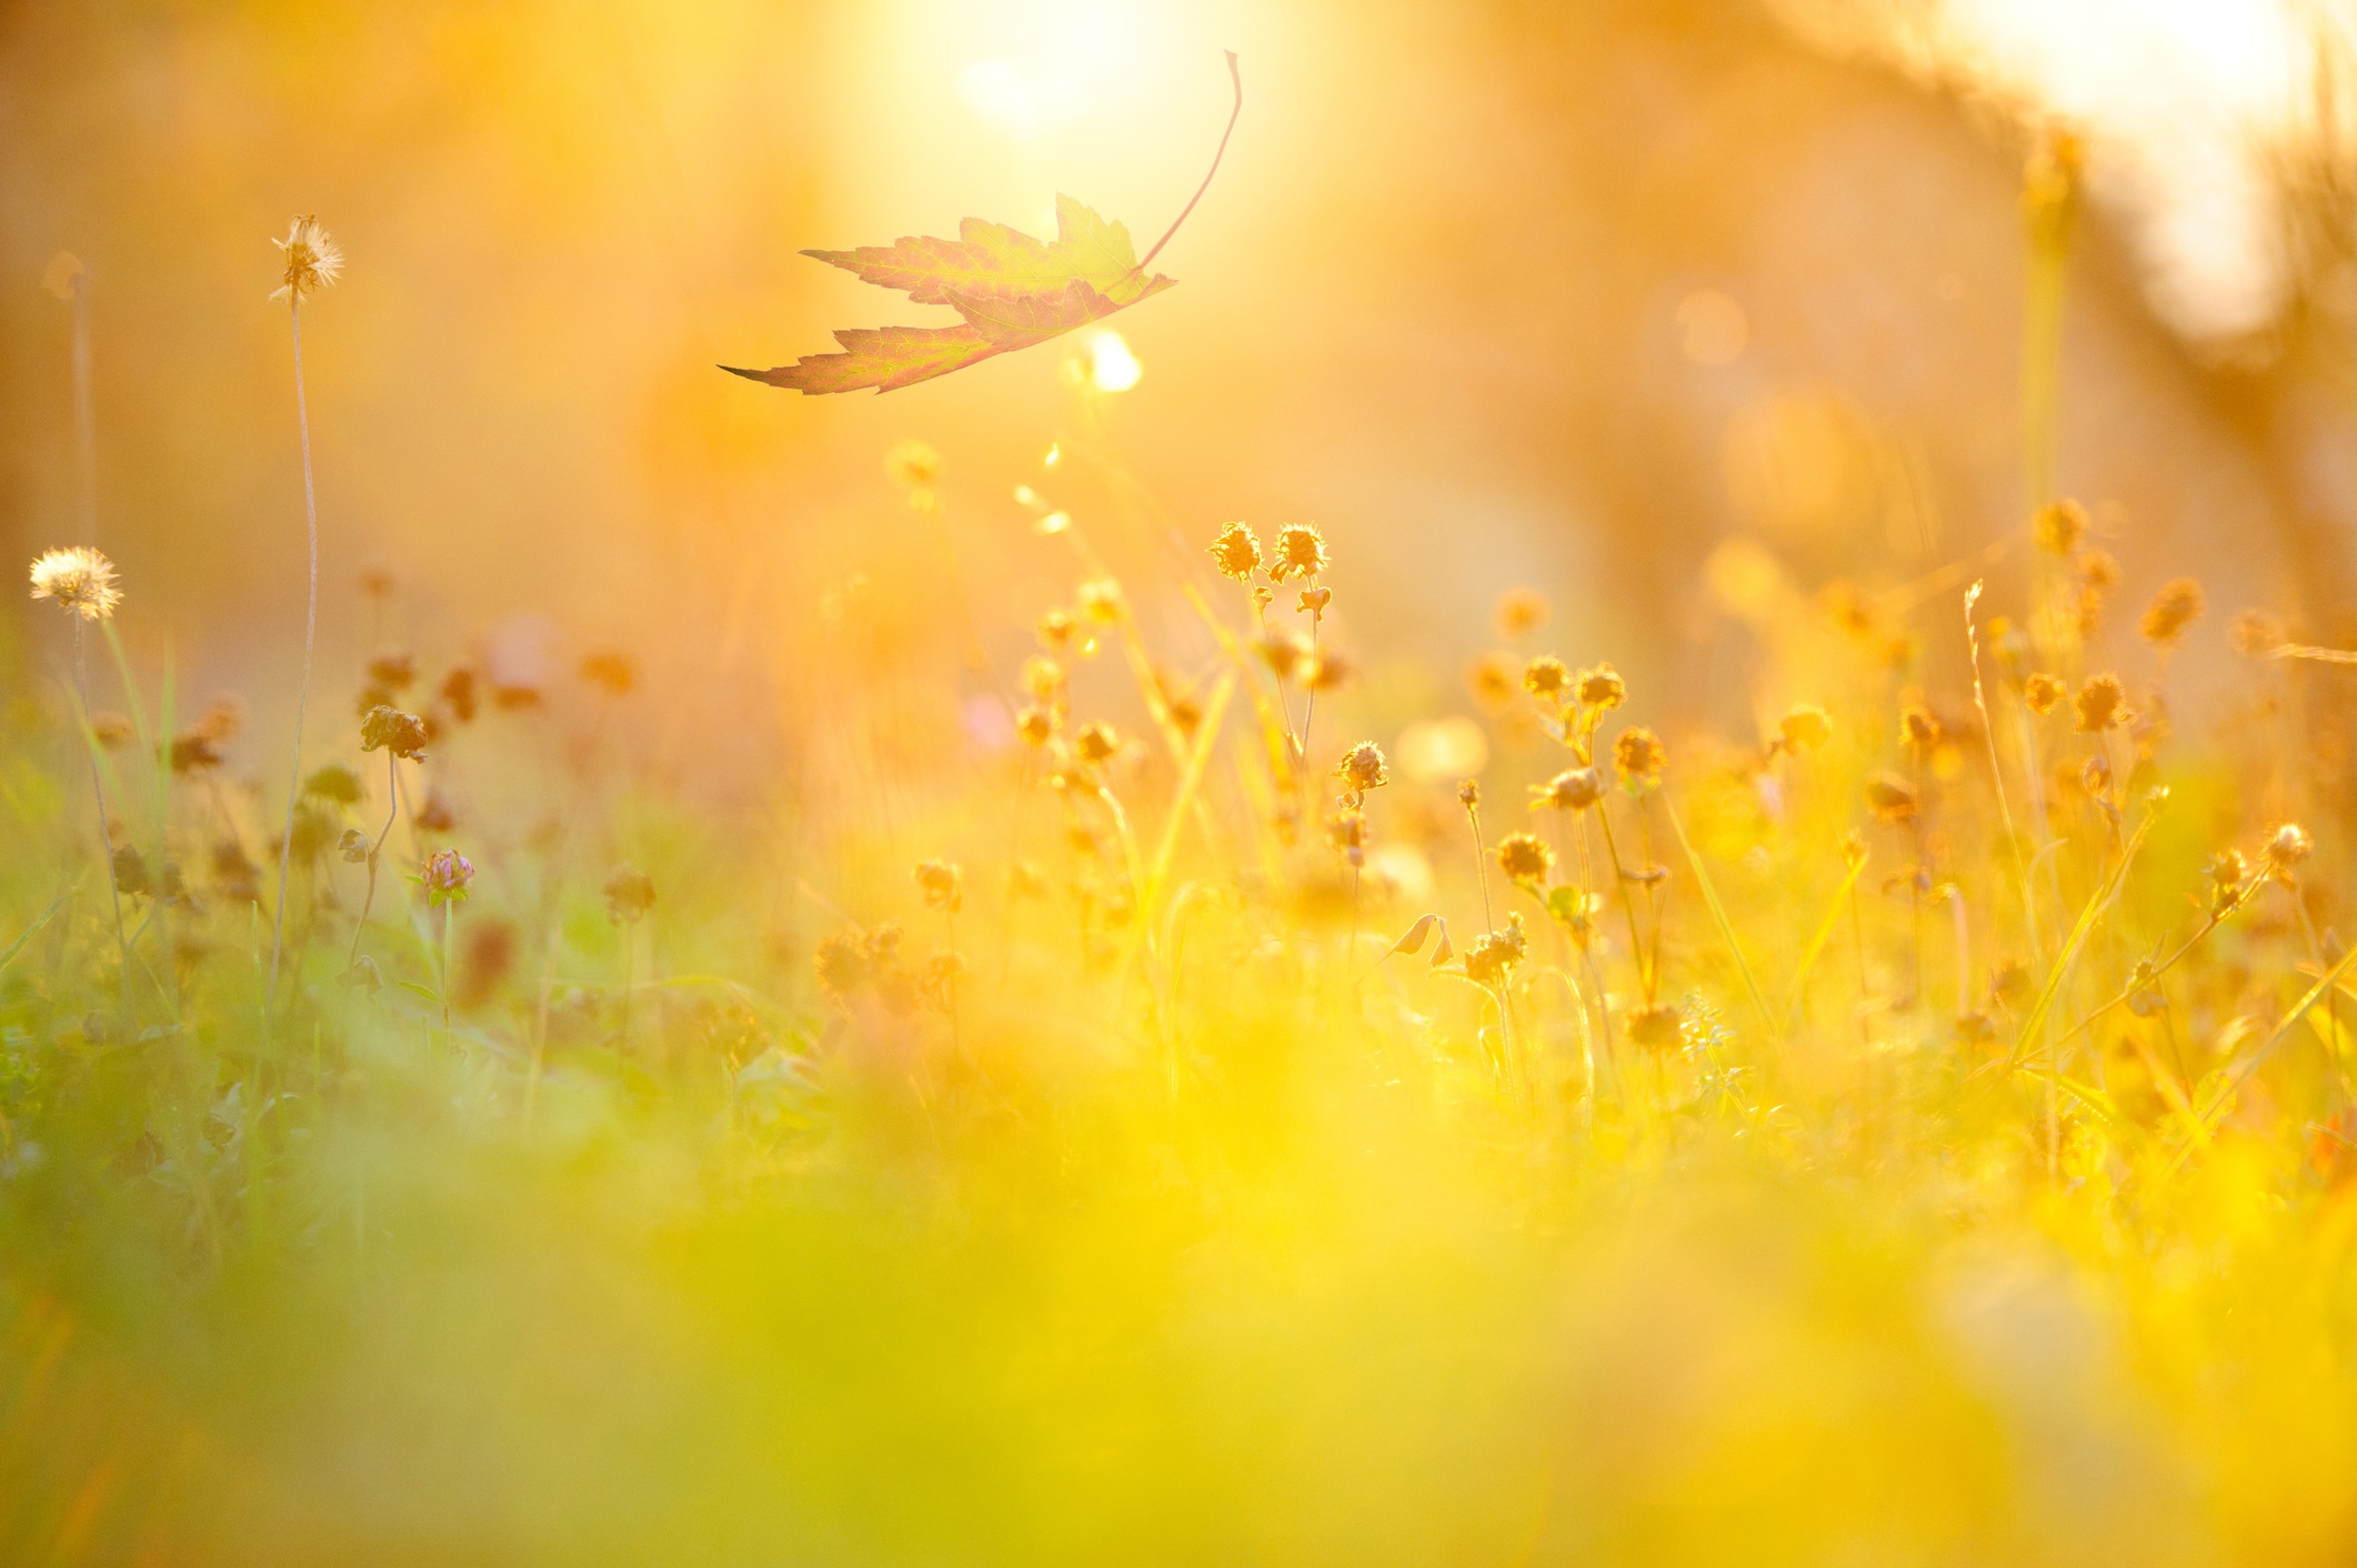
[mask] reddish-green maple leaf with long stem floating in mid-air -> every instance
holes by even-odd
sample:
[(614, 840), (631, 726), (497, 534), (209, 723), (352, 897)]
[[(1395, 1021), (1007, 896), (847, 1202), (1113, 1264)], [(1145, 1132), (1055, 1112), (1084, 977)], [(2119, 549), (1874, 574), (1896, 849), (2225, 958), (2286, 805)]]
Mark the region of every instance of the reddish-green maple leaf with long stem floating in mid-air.
[(801, 255), (841, 266), (863, 283), (896, 288), (917, 304), (948, 304), (962, 321), (945, 328), (844, 328), (834, 335), (844, 347), (841, 354), (804, 354), (792, 365), (771, 370), (735, 365), (721, 370), (808, 394), (865, 387), (893, 391), (964, 370), (995, 354), (1030, 349), (1160, 295), (1176, 278), (1148, 276), (1146, 269), (1211, 189), (1211, 174), (1219, 172), (1228, 137), (1235, 134), (1235, 120), (1244, 111), (1244, 78), (1233, 52), (1228, 78), (1235, 83), (1235, 108), (1228, 111), (1228, 130), (1211, 153), (1211, 170), (1143, 259), (1131, 248), (1124, 224), (1105, 222), (1070, 196), (1056, 198), (1054, 243), (969, 217), (957, 226), (955, 241), (910, 236), (858, 250), (804, 250)]

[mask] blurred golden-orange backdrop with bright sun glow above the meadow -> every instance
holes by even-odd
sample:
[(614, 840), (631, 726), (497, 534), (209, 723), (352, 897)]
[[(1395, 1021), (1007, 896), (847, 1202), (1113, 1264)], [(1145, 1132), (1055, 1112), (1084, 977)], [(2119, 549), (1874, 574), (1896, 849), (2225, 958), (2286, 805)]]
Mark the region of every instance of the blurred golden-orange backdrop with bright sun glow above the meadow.
[[(1464, 705), (1428, 672), (1527, 585), (1565, 653), (1742, 726), (1765, 618), (2018, 531), (2020, 163), (2060, 118), (2095, 193), (2060, 486), (2128, 601), (2197, 573), (2326, 639), (2357, 519), (2345, 38), (2296, 0), (19, 5), (0, 528), (78, 535), (71, 309), (40, 288), (66, 250), (127, 632), (266, 733), (302, 625), (266, 241), (316, 212), (351, 257), (304, 314), (330, 670), (620, 644), (667, 766), (759, 783), (823, 700), (830, 589), (940, 552), (884, 474), (915, 436), (1004, 658), (1065, 592), (1011, 500), (1035, 483), (1124, 514), (1134, 561), (1320, 521), (1376, 710)], [(1143, 250), (1226, 118), (1221, 50), (1247, 101), (1160, 259), (1183, 288), (1108, 323), (1134, 387), (1075, 384), (1087, 340), (882, 398), (714, 370), (929, 318), (801, 248), (1037, 229), (1068, 191)], [(1091, 460), (1047, 474), (1058, 441)], [(382, 632), (368, 564), (401, 582)], [(1174, 604), (1143, 611), (1186, 637)], [(2185, 667), (2199, 703), (2218, 660)]]

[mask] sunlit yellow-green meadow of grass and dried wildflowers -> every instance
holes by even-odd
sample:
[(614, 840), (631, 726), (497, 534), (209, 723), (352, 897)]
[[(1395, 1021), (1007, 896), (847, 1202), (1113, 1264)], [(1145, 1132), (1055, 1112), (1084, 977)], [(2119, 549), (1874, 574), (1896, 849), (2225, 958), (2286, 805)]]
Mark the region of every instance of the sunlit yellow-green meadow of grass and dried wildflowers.
[(1497, 582), (1362, 733), (1348, 521), (1094, 516), (1051, 448), (1009, 658), (952, 460), (879, 476), (922, 571), (811, 587), (837, 788), (757, 828), (643, 783), (629, 651), (412, 627), (240, 757), (137, 575), (33, 566), (0, 1556), (2357, 1551), (2352, 672), (2289, 608), (2124, 604), (2041, 493), (1909, 582), (1723, 552), (1754, 731)]

